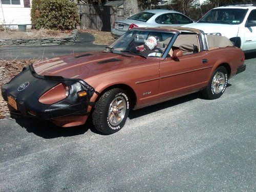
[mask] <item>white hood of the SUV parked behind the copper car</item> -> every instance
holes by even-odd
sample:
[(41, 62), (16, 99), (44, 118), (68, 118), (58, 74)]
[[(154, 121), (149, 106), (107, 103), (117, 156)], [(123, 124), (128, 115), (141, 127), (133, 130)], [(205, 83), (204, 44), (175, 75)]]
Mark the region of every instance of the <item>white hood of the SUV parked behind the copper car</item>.
[(237, 36), (239, 25), (193, 23), (182, 27), (200, 29), (204, 33), (221, 33), (222, 36), (231, 38)]

